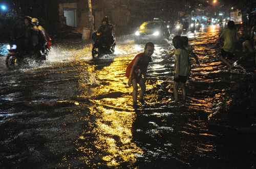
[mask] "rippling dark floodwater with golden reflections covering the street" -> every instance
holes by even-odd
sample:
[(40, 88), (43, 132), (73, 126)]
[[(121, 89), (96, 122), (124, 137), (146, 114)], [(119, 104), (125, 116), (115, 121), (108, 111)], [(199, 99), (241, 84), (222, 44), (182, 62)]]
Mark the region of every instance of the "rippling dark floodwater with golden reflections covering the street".
[(100, 59), (77, 40), (56, 42), (40, 66), (10, 70), (2, 56), (0, 168), (255, 168), (255, 72), (240, 51), (236, 67), (220, 62), (219, 33), (187, 35), (201, 65), (184, 105), (174, 102), (174, 58), (158, 64), (171, 43), (156, 45), (137, 107), (124, 75), (144, 44), (129, 37)]

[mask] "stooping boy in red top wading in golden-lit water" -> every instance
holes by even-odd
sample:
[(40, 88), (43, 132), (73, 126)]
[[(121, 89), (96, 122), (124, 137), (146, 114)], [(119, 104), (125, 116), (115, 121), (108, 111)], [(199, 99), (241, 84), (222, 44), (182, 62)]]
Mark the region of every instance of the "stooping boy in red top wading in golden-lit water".
[[(146, 72), (147, 66), (152, 61), (151, 55), (154, 52), (154, 44), (152, 42), (147, 42), (143, 53), (139, 53), (133, 59), (133, 61), (127, 66), (125, 76), (128, 78), (128, 86), (133, 86), (133, 103), (137, 104), (137, 92), (138, 85), (141, 88), (139, 94), (139, 101), (143, 102), (143, 96), (146, 91)], [(142, 78), (143, 75), (143, 78)]]

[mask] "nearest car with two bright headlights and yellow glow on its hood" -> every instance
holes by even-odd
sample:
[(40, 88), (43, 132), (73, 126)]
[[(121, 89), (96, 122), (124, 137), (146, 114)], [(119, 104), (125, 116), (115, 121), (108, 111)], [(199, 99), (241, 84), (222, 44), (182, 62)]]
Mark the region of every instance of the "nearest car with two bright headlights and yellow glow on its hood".
[(153, 21), (146, 21), (140, 25), (135, 32), (135, 43), (142, 43), (152, 41), (161, 43), (164, 39), (170, 38), (170, 32), (164, 21), (154, 19)]

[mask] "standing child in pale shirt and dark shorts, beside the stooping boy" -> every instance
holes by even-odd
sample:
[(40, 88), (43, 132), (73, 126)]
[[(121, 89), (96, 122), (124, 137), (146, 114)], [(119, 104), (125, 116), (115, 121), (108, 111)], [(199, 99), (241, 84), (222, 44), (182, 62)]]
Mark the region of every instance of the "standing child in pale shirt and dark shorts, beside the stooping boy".
[(183, 102), (186, 101), (186, 81), (190, 75), (189, 71), (189, 52), (185, 49), (181, 36), (173, 38), (173, 45), (175, 47), (175, 63), (174, 63), (174, 99), (179, 102), (178, 88), (179, 84), (182, 90)]

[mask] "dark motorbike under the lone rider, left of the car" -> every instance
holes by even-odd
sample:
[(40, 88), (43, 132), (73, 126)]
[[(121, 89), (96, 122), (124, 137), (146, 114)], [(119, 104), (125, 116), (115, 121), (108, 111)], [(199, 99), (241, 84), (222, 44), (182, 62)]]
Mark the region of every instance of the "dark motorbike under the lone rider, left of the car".
[(116, 38), (112, 35), (111, 38), (102, 38), (100, 33), (95, 32), (92, 34), (92, 39), (94, 41), (92, 48), (92, 57), (97, 58), (103, 54), (112, 54), (115, 51)]

